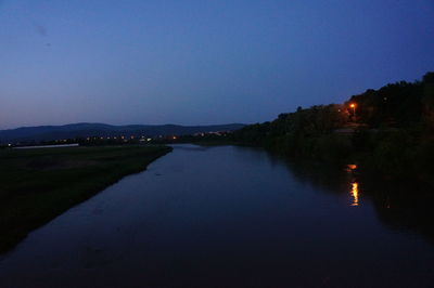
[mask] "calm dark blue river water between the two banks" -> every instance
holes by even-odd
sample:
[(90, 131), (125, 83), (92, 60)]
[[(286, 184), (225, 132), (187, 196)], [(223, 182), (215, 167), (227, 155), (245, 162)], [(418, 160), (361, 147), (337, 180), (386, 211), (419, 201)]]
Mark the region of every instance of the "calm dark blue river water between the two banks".
[(0, 257), (0, 287), (434, 287), (424, 208), (307, 171), (175, 146)]

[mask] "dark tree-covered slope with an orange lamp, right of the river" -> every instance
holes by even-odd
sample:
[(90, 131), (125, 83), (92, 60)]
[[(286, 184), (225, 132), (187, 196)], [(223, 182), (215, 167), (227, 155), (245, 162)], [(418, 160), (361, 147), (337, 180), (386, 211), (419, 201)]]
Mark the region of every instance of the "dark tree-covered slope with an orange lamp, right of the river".
[(434, 73), (367, 90), (342, 105), (281, 114), (237, 131), (244, 145), (295, 159), (357, 163), (360, 171), (434, 185)]

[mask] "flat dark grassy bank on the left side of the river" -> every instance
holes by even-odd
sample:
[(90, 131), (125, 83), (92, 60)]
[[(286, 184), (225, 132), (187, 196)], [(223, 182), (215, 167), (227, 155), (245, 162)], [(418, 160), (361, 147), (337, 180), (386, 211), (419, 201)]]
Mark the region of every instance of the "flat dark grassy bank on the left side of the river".
[(0, 150), (0, 252), (170, 150), (166, 146)]

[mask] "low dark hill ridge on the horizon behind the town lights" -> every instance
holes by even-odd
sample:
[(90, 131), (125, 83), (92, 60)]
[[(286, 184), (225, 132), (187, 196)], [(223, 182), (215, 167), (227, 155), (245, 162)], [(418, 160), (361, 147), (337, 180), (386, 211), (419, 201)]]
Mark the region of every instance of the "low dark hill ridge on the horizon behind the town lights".
[(112, 126), (104, 123), (72, 123), (65, 126), (22, 127), (0, 130), (0, 143), (25, 141), (51, 141), (87, 136), (117, 135), (188, 135), (201, 132), (233, 131), (243, 128), (241, 123), (213, 126), (179, 126), (179, 125), (129, 125)]

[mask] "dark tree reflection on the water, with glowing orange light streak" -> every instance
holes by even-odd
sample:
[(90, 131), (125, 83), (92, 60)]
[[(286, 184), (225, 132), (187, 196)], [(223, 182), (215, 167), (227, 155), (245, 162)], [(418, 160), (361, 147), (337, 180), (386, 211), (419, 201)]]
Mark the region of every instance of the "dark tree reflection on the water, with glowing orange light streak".
[(408, 181), (386, 181), (357, 173), (357, 166), (335, 166), (312, 162), (289, 162), (298, 181), (309, 183), (326, 193), (348, 195), (350, 206), (373, 207), (378, 219), (388, 228), (414, 232), (434, 244), (433, 188)]

